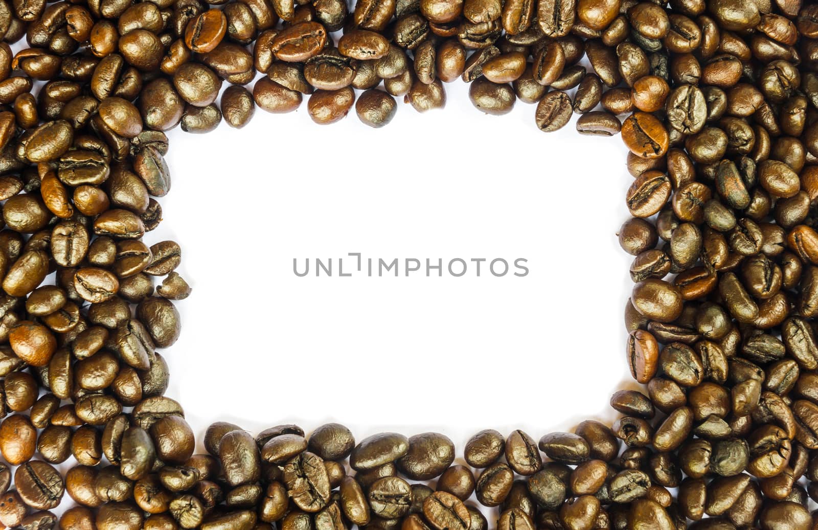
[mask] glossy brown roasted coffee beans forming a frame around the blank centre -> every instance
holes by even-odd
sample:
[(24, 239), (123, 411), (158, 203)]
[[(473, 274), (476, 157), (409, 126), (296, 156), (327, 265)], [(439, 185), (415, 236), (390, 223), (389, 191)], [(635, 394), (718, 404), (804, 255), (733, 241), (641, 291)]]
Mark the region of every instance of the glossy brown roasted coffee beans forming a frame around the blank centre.
[[(818, 526), (816, 3), (0, 0), (0, 36), (2, 525)], [(194, 454), (158, 351), (191, 289), (177, 243), (142, 242), (171, 184), (164, 131), (303, 96), (319, 124), (354, 105), (380, 127), (395, 97), (440, 108), (457, 78), (488, 114), (519, 99), (542, 131), (578, 114), (621, 133), (645, 386), (611, 398), (613, 426), (483, 430), (457, 462), (443, 434), (339, 424), (216, 423)]]

